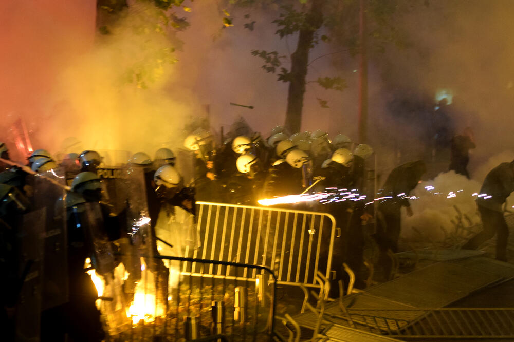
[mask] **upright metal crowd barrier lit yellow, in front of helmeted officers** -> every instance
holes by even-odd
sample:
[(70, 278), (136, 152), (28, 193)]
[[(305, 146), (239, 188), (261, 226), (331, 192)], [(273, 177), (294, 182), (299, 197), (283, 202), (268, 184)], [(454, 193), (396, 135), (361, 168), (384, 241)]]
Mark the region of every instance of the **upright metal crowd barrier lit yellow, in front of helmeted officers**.
[[(262, 265), (273, 270), (279, 284), (319, 288), (318, 271), (329, 278), (336, 237), (332, 215), (200, 201), (196, 204), (201, 246), (186, 255)], [(198, 265), (191, 267), (197, 272)], [(218, 268), (215, 274), (229, 271)], [(255, 272), (243, 276), (254, 278)]]

